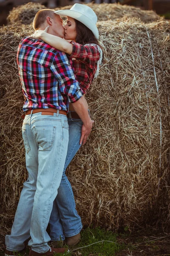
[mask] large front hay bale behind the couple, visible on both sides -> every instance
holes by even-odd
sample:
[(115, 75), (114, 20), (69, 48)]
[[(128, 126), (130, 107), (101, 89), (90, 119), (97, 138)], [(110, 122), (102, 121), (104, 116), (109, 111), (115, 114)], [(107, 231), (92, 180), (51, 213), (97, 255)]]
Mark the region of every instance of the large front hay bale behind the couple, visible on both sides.
[[(68, 168), (83, 224), (170, 227), (170, 22), (98, 23), (105, 64), (87, 95), (95, 127)], [(0, 28), (2, 235), (26, 180), (17, 46), (31, 26)], [(161, 128), (161, 129), (160, 129)], [(10, 214), (9, 214), (10, 212)], [(1, 236), (0, 241), (4, 237)]]

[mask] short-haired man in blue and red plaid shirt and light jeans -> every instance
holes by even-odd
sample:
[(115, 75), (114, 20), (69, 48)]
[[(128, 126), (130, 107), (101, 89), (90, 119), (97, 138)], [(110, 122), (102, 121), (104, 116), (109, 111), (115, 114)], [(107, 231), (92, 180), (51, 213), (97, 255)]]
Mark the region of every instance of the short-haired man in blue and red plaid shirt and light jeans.
[[(39, 29), (49, 26), (50, 34), (64, 37), (62, 19), (53, 10), (41, 10), (34, 27), (35, 23)], [(11, 235), (6, 236), (6, 255), (23, 250), (30, 236), (29, 256), (63, 253), (65, 248), (49, 247), (46, 228), (67, 153), (69, 101), (83, 122), (81, 141), (87, 139), (93, 121), (65, 53), (26, 37), (18, 47), (17, 63), (26, 97), (22, 134), (28, 180), (23, 184)]]

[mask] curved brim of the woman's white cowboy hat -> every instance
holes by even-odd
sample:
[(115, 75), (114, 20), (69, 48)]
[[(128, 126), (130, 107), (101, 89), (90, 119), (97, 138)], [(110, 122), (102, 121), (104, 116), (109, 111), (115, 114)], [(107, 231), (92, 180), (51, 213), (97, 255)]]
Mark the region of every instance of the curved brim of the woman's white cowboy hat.
[(66, 17), (74, 18), (75, 20), (79, 20), (85, 26), (87, 26), (93, 33), (94, 36), (99, 39), (99, 31), (97, 29), (96, 24), (90, 20), (87, 16), (83, 15), (80, 12), (72, 11), (72, 10), (59, 10), (55, 11), (56, 14)]

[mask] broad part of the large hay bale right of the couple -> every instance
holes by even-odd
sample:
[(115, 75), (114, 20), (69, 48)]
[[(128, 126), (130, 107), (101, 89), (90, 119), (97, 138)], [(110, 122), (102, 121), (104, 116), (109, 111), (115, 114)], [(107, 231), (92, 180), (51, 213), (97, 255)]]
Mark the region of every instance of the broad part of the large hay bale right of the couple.
[(98, 23), (106, 63), (88, 96), (96, 127), (70, 166), (86, 224), (169, 225), (170, 22)]

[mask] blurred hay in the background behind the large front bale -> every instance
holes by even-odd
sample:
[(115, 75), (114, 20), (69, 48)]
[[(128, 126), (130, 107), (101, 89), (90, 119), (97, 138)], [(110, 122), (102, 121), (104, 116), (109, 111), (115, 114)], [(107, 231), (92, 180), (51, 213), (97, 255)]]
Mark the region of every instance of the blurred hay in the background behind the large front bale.
[[(144, 11), (134, 6), (122, 6), (117, 3), (87, 3), (86, 5), (90, 6), (94, 12), (96, 12), (98, 21), (116, 20), (124, 16), (137, 17), (144, 23), (162, 19), (156, 14), (156, 12)], [(55, 8), (55, 10), (70, 9), (71, 6), (72, 5)], [(15, 22), (30, 24), (34, 19), (35, 14), (40, 9), (45, 9), (45, 6), (42, 6), (40, 3), (27, 3), (25, 5), (18, 6), (17, 8), (13, 8), (7, 17), (8, 24), (14, 24)]]

